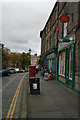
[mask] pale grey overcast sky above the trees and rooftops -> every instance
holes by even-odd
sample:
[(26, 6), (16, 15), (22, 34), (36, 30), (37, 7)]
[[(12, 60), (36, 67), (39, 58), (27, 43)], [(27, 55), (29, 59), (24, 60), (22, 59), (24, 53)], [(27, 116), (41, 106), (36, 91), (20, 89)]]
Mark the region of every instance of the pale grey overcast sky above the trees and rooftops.
[[(55, 0), (56, 1), (56, 0)], [(0, 40), (12, 52), (41, 52), (40, 31), (44, 28), (54, 2), (3, 2), (0, 5), (2, 17), (2, 38), (0, 22)]]

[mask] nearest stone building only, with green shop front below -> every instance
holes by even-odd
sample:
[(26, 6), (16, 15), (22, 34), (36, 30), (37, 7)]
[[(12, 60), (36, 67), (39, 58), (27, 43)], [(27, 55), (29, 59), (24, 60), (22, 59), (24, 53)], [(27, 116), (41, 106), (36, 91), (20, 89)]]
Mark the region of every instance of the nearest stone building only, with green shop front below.
[(69, 22), (63, 23), (59, 20), (59, 39), (69, 39), (69, 42), (58, 43), (59, 66), (58, 80), (67, 83), (68, 88), (75, 91), (80, 90), (80, 3), (60, 2), (59, 18), (68, 15)]

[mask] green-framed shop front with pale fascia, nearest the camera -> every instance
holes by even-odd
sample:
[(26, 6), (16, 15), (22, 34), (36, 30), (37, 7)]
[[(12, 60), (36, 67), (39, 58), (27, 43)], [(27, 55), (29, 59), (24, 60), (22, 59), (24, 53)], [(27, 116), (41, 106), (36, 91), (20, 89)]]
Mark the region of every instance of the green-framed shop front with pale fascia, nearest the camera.
[(58, 81), (73, 89), (75, 84), (75, 44), (74, 35), (68, 37), (69, 42), (59, 42), (58, 45)]

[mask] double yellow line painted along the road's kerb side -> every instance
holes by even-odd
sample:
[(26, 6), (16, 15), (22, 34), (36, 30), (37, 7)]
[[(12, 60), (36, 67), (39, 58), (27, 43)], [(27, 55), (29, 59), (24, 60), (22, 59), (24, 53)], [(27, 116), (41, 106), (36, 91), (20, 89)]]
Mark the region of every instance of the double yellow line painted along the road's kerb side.
[(11, 102), (11, 105), (10, 105), (10, 108), (9, 108), (9, 111), (8, 111), (8, 114), (6, 116), (6, 120), (8, 120), (8, 119), (11, 120), (12, 117), (13, 117), (15, 106), (16, 106), (16, 102), (17, 102), (18, 95), (19, 95), (20, 88), (21, 88), (21, 84), (22, 84), (25, 76), (26, 76), (26, 74), (21, 78), (20, 83), (19, 83), (19, 85), (18, 85), (18, 87), (16, 89), (16, 92), (14, 94), (14, 97), (12, 99), (12, 102)]

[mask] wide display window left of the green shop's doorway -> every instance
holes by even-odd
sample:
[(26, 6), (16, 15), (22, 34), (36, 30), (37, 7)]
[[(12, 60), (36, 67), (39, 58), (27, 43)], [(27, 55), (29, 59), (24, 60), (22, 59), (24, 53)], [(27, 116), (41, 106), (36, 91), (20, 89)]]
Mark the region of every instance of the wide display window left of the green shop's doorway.
[(59, 56), (59, 74), (65, 76), (65, 51)]

